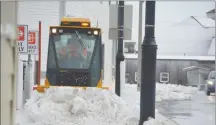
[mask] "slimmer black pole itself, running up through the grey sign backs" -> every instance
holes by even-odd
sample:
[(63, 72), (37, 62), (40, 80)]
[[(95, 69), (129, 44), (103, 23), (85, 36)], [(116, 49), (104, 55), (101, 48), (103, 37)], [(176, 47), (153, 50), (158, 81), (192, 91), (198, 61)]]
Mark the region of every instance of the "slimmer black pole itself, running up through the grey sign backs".
[(116, 55), (116, 81), (115, 93), (120, 96), (120, 63), (124, 61), (123, 54), (123, 31), (124, 29), (124, 1), (119, 1), (118, 5), (118, 52)]

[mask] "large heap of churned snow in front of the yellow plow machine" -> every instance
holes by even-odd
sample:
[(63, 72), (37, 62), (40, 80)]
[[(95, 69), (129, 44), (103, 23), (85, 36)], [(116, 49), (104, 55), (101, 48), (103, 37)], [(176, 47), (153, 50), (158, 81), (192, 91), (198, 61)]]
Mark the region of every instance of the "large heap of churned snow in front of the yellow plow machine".
[[(46, 93), (34, 91), (16, 125), (138, 125), (134, 110), (109, 90), (71, 87), (49, 88)], [(156, 120), (144, 125), (175, 125), (156, 112)]]

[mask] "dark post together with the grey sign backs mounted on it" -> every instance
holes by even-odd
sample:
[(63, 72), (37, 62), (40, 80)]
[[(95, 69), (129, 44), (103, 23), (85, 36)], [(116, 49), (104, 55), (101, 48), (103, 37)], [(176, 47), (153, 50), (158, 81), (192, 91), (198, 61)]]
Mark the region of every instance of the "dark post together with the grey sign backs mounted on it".
[[(115, 59), (115, 92), (118, 96), (122, 93), (120, 90), (124, 87), (125, 79), (125, 63), (124, 63), (124, 40), (131, 40), (132, 34), (132, 17), (133, 6), (125, 5), (124, 1), (118, 4), (109, 5), (109, 39), (116, 41), (114, 47), (117, 52)], [(117, 45), (116, 45), (117, 44)], [(122, 67), (122, 68), (120, 68)], [(122, 76), (122, 77), (121, 77)], [(124, 77), (123, 77), (124, 76)], [(124, 78), (124, 79), (121, 79)]]

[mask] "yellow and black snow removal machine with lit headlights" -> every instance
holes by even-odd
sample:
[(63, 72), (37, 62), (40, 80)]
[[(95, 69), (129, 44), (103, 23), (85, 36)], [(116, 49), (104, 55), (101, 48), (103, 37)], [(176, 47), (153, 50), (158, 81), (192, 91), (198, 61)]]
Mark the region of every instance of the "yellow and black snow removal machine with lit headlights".
[(47, 71), (38, 92), (55, 86), (102, 86), (101, 29), (91, 27), (90, 19), (64, 17), (60, 26), (50, 26)]

